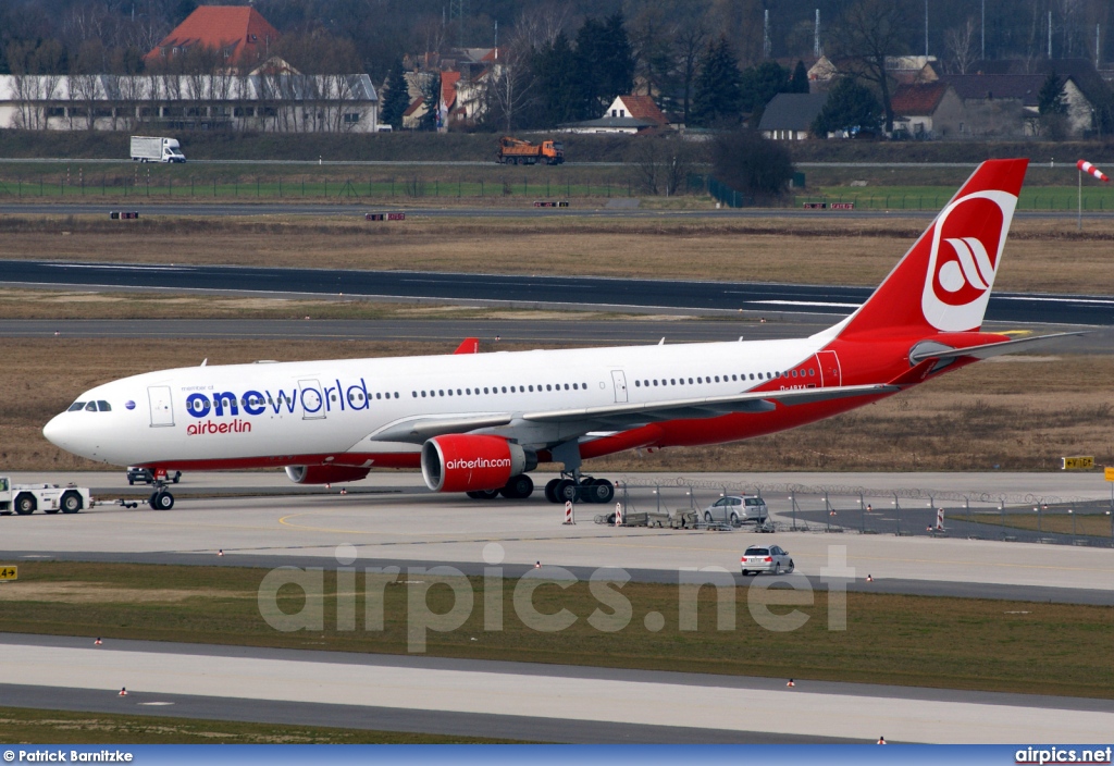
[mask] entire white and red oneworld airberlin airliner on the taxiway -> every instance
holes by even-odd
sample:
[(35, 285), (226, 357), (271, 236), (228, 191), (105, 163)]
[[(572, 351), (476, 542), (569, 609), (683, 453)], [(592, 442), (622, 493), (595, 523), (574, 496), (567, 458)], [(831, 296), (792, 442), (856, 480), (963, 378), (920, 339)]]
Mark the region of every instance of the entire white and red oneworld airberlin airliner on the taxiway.
[(1053, 337), (979, 331), (1026, 165), (979, 166), (873, 295), (811, 337), (164, 370), (87, 391), (43, 434), (150, 469), (159, 509), (167, 471), (330, 483), (420, 467), (434, 491), (526, 498), (549, 461), (564, 470), (548, 500), (606, 502), (583, 460), (791, 429)]

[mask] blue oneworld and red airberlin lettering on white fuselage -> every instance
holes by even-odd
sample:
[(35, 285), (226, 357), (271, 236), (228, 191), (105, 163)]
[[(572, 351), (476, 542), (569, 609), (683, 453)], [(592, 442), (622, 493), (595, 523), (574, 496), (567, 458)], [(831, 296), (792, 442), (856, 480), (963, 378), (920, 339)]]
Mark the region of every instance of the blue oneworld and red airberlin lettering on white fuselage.
[[(368, 394), (368, 384), (362, 377), (354, 385), (344, 386), (339, 380), (335, 381), (335, 384), (321, 389), (302, 385), (301, 387), (293, 387), (290, 391), (278, 389), (275, 393), (272, 393), (270, 390), (263, 390), (245, 391), (241, 394), (233, 391), (199, 393), (196, 390), (197, 386), (190, 386), (187, 390), (194, 391), (194, 393), (186, 396), (186, 412), (190, 415), (198, 420), (209, 418), (211, 415), (213, 418), (227, 416), (237, 420), (232, 423), (224, 423), (224, 425), (236, 426), (228, 429), (219, 429), (218, 424), (212, 421), (196, 423), (194, 425), (198, 428), (193, 430), (194, 425), (190, 425), (192, 430), (189, 433), (228, 433), (229, 431), (242, 433), (251, 431), (251, 423), (238, 420), (241, 412), (247, 416), (265, 415), (268, 411), (275, 415), (281, 415), (284, 411), (287, 414), (294, 414), (294, 409), (299, 405), (307, 414), (332, 412), (334, 405), (341, 411), (368, 409), (371, 396)], [(334, 396), (334, 394), (340, 394), (341, 392), (343, 392), (343, 395)], [(218, 430), (214, 431), (209, 428), (213, 425), (217, 425)]]

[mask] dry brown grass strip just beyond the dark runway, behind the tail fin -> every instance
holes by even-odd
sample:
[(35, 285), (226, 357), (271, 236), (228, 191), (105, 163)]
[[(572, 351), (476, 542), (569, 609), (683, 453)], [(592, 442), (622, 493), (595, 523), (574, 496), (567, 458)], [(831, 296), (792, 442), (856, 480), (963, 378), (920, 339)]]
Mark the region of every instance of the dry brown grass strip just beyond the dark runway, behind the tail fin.
[[(0, 220), (0, 258), (877, 284), (916, 219)], [(1018, 220), (1000, 289), (1114, 293), (1114, 222)]]

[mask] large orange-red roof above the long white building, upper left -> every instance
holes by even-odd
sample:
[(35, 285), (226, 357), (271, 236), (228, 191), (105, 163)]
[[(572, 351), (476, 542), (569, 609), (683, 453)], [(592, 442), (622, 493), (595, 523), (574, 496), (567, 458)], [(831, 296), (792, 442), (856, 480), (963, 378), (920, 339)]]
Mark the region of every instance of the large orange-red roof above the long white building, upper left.
[(219, 51), (229, 67), (270, 58), (278, 30), (250, 6), (201, 6), (144, 57), (150, 66), (195, 48)]

